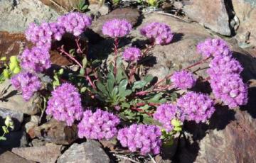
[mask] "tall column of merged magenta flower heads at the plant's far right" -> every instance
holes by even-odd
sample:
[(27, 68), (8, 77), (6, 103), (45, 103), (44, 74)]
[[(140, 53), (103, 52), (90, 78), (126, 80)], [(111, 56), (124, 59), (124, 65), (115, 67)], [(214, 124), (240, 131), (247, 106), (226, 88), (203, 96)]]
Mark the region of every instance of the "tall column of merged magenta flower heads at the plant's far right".
[(207, 72), (215, 98), (223, 101), (229, 108), (245, 105), (248, 101), (247, 85), (240, 77), (243, 68), (232, 57), (228, 43), (221, 39), (208, 39), (198, 44), (198, 51), (206, 57), (213, 57)]

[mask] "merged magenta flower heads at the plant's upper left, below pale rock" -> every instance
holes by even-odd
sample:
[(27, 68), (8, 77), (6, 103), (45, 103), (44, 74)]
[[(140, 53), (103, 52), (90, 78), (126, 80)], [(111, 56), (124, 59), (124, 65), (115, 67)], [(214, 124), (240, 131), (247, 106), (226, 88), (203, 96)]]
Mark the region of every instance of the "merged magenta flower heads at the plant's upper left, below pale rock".
[(37, 47), (50, 50), (53, 40), (61, 40), (62, 36), (68, 32), (78, 36), (85, 28), (90, 26), (92, 20), (83, 13), (72, 12), (60, 16), (57, 22), (31, 23), (26, 30), (26, 39), (36, 44)]

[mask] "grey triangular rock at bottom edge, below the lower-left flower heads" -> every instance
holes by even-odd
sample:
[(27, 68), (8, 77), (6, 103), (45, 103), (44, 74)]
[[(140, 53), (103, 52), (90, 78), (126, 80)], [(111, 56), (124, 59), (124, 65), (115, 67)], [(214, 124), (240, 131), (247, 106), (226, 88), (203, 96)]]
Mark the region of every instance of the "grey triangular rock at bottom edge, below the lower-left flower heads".
[(99, 142), (95, 140), (83, 142), (82, 144), (73, 144), (59, 158), (58, 163), (73, 162), (73, 163), (109, 163), (110, 158), (102, 150)]

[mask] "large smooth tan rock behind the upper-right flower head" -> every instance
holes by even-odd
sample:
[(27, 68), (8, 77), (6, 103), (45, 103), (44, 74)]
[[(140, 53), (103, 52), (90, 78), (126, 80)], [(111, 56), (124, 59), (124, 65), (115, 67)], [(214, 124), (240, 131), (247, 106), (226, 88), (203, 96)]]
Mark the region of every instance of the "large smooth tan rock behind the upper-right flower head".
[[(151, 61), (146, 63), (146, 66), (149, 67), (147, 73), (162, 79), (167, 74), (181, 69), (181, 67), (187, 67), (201, 60), (201, 55), (196, 54), (196, 44), (210, 37), (210, 34), (202, 26), (197, 23), (186, 23), (170, 16), (152, 13), (144, 18), (138, 29), (155, 20), (171, 26), (171, 30), (174, 32), (174, 40), (169, 45), (156, 45), (154, 50), (151, 50)], [(141, 47), (146, 43), (146, 38), (139, 34), (139, 30), (132, 31), (131, 35), (133, 45)]]

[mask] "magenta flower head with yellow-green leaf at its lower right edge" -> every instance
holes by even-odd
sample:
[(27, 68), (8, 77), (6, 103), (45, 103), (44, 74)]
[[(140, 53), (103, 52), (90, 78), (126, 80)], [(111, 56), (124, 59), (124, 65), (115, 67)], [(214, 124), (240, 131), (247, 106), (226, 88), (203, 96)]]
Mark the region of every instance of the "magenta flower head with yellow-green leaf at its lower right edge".
[(174, 126), (171, 125), (171, 120), (179, 118), (180, 110), (174, 104), (164, 103), (157, 107), (153, 116), (155, 120), (158, 120), (163, 125), (167, 132), (170, 132), (174, 129)]

